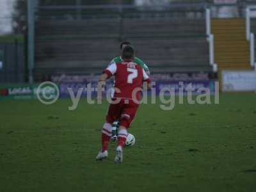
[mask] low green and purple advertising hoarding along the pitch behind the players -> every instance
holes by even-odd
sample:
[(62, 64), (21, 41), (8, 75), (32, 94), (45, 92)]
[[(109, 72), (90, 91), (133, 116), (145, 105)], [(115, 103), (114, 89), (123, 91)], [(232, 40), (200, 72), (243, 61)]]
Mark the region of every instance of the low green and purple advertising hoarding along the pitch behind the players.
[[(70, 99), (70, 88), (74, 95), (83, 90), (81, 97), (88, 96), (88, 87), (91, 86), (92, 97), (97, 96), (97, 80), (99, 76), (55, 76), (52, 77), (51, 82), (58, 86), (59, 93), (54, 87), (50, 86), (44, 90), (41, 84), (0, 84), (0, 100), (4, 99), (38, 99), (40, 95), (47, 95), (47, 97), (55, 98), (59, 95), (62, 99)], [(168, 88), (173, 90), (175, 95), (183, 89), (183, 94), (186, 95), (189, 85), (192, 86), (193, 94), (198, 94), (198, 90), (207, 88), (211, 94), (216, 90), (216, 79), (208, 77), (208, 74), (154, 74), (152, 75), (152, 82), (156, 90), (156, 96), (161, 90)], [(90, 84), (90, 85), (89, 85)], [(87, 88), (87, 89), (86, 89)], [(106, 84), (106, 90), (113, 88), (113, 79), (110, 79)], [(106, 95), (106, 91), (103, 92)], [(50, 95), (49, 95), (50, 94)], [(149, 95), (152, 95), (149, 93)]]

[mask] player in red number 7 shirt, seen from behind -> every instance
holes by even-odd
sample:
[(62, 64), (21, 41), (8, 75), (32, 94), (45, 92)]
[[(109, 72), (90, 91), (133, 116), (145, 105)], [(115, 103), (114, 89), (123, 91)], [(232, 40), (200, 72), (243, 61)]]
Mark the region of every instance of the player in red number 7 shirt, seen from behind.
[(127, 129), (136, 115), (139, 107), (138, 100), (141, 99), (141, 92), (135, 92), (135, 90), (141, 88), (143, 81), (147, 82), (148, 88), (151, 88), (151, 83), (145, 70), (134, 62), (134, 49), (130, 45), (124, 47), (122, 61), (109, 65), (100, 76), (99, 82), (105, 82), (111, 76), (115, 76), (116, 92), (102, 128), (102, 148), (96, 159), (102, 160), (108, 157), (108, 145), (112, 136), (111, 125), (119, 120), (120, 127), (118, 129), (115, 163), (122, 163)]

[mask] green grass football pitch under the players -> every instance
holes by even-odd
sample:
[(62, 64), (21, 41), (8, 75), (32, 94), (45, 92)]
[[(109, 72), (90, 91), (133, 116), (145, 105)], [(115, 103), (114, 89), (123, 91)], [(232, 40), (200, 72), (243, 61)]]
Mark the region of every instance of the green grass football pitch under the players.
[(124, 163), (96, 162), (107, 104), (0, 101), (0, 191), (255, 191), (256, 94), (141, 106)]

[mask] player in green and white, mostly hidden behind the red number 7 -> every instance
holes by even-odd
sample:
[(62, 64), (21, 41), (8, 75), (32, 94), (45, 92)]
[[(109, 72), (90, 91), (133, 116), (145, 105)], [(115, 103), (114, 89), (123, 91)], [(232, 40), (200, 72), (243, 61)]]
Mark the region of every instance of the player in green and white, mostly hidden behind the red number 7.
[[(124, 47), (126, 47), (127, 45), (131, 45), (131, 42), (122, 42), (120, 44), (120, 49), (123, 50)], [(109, 65), (114, 64), (114, 63), (120, 63), (122, 61), (123, 61), (122, 56), (119, 56), (119, 57), (113, 58), (113, 60), (109, 63)], [(145, 72), (148, 75), (150, 75), (150, 71), (149, 71), (148, 66), (142, 60), (135, 57), (133, 61), (134, 61), (134, 63), (137, 63), (138, 65), (140, 65), (140, 67), (142, 67), (145, 70)], [(113, 97), (113, 94), (114, 94), (114, 91), (111, 93), (111, 97)], [(113, 122), (112, 136), (111, 136), (112, 141), (115, 141), (117, 139), (117, 129), (118, 129), (118, 127), (119, 127), (119, 122), (118, 121)]]

